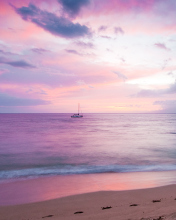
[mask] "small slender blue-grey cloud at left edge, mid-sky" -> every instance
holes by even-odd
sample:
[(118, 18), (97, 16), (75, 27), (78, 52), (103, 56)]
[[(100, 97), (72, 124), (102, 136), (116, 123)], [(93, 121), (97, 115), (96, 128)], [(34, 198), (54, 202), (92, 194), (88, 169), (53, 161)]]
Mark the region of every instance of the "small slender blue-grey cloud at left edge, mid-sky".
[(36, 66), (27, 63), (25, 60), (18, 60), (18, 61), (11, 61), (4, 57), (0, 57), (0, 64), (8, 64), (14, 67), (21, 67), (21, 68), (36, 68)]

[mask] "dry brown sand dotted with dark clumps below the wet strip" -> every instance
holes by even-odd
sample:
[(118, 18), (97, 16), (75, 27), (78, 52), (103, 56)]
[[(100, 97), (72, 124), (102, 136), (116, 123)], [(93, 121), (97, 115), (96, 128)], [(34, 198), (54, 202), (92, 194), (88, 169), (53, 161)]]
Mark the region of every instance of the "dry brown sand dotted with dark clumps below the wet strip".
[(100, 191), (44, 202), (0, 207), (1, 220), (176, 219), (176, 185)]

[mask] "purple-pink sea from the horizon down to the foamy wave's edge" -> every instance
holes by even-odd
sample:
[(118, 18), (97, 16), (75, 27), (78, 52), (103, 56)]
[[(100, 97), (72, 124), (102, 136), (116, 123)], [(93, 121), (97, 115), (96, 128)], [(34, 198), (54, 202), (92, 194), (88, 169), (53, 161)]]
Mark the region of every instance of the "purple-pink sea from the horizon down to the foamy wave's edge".
[(0, 180), (176, 170), (176, 114), (0, 114)]

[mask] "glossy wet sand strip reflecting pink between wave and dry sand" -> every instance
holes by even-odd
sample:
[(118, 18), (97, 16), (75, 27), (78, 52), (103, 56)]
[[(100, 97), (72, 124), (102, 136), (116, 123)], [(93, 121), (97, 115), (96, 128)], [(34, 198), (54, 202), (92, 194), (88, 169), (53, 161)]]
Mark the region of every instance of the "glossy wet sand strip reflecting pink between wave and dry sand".
[(50, 176), (0, 183), (0, 207), (97, 191), (124, 191), (176, 183), (176, 171)]

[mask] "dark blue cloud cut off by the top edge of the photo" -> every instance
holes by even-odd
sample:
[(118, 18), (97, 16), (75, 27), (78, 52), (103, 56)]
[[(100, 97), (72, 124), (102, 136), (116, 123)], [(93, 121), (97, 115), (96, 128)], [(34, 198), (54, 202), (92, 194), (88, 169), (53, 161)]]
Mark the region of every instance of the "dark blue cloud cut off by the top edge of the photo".
[(90, 0), (58, 0), (58, 2), (63, 6), (64, 12), (70, 16), (75, 16), (83, 6), (90, 3)]

